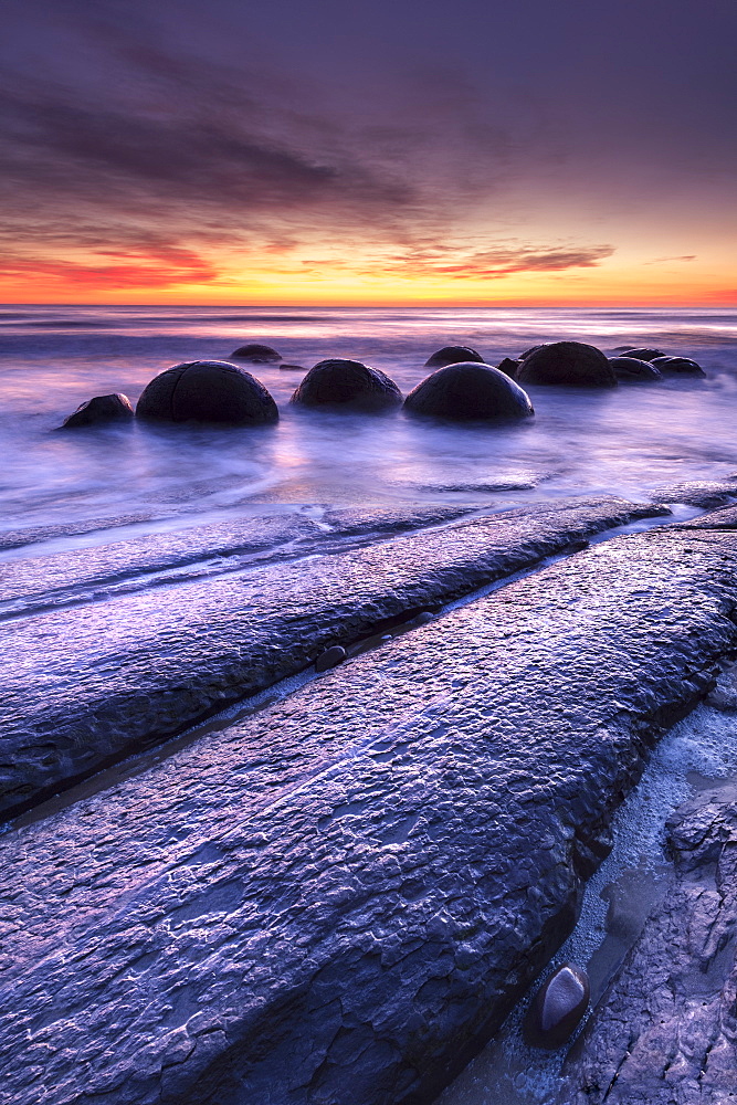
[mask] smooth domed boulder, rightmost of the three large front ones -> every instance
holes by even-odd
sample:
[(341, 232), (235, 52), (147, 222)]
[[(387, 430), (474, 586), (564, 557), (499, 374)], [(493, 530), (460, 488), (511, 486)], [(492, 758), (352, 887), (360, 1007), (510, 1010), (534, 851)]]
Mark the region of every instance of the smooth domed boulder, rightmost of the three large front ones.
[(404, 400), (413, 414), (471, 419), (517, 419), (534, 414), (529, 396), (498, 368), (468, 361), (425, 377)]

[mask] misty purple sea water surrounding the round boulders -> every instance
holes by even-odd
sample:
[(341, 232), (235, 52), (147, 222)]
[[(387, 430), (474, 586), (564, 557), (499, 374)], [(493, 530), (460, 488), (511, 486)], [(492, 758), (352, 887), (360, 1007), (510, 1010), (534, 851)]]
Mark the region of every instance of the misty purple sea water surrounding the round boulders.
[[(564, 338), (606, 351), (656, 344), (695, 357), (708, 377), (602, 392), (531, 388), (534, 420), (453, 427), (401, 412), (289, 408), (302, 373), (257, 366), (254, 375), (281, 410), (272, 428), (52, 432), (94, 394), (123, 391), (135, 401), (170, 365), (228, 359), (251, 340), (305, 368), (329, 356), (365, 360), (407, 392), (442, 345), (474, 346), (495, 365)], [(156, 527), (217, 520), (264, 503), (502, 507), (589, 491), (640, 497), (665, 481), (737, 471), (736, 414), (737, 313), (723, 309), (7, 306), (0, 308), (0, 526), (147, 516)], [(536, 486), (488, 491), (499, 483)]]

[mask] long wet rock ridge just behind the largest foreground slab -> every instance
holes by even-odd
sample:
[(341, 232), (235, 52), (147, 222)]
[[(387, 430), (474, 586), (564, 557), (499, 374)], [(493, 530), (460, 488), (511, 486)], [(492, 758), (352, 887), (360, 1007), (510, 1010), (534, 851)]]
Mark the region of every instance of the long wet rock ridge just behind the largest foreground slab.
[[(144, 573), (143, 586), (112, 596), (81, 582), (62, 609), (48, 592), (25, 594), (1, 629), (0, 811), (166, 739), (326, 648), (657, 513), (604, 497), (394, 537), (325, 556), (319, 568), (303, 557), (209, 573), (204, 582)], [(25, 572), (7, 566), (8, 601), (13, 581), (28, 589)]]

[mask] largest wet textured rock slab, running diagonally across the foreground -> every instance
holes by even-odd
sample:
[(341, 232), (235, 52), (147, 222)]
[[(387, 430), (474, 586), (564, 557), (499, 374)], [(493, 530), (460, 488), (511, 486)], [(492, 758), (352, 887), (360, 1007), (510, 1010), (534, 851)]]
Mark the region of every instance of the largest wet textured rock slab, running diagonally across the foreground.
[(734, 534), (614, 538), (1, 838), (10, 1099), (431, 1101), (736, 607)]

